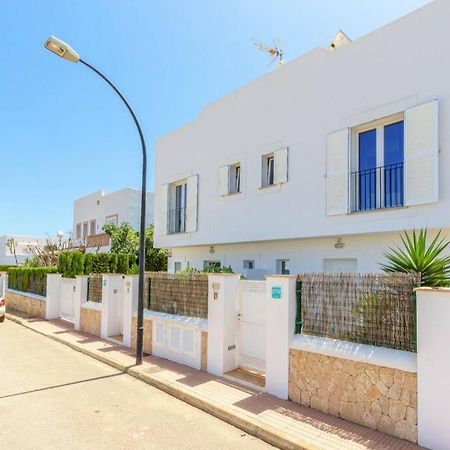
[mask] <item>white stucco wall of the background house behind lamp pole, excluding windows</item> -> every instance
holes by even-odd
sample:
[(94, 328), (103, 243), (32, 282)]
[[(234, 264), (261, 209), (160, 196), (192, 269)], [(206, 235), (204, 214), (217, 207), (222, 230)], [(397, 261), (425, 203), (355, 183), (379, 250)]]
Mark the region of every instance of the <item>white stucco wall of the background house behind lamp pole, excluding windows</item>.
[[(103, 233), (106, 217), (118, 215), (119, 224), (129, 222), (139, 229), (141, 217), (141, 192), (137, 189), (121, 189), (106, 194), (98, 191), (75, 200), (73, 205), (73, 236), (76, 239), (77, 223), (96, 221), (96, 234)], [(153, 193), (147, 193), (146, 224), (153, 223)], [(90, 234), (90, 225), (88, 225)]]

